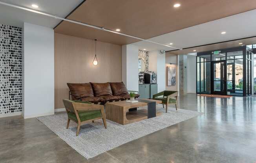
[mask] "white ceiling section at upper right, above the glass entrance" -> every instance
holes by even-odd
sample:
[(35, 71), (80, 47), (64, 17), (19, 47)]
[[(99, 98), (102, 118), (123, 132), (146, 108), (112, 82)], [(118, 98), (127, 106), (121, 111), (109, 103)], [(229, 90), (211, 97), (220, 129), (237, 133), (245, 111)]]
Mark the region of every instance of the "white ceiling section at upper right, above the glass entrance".
[[(221, 34), (222, 31), (226, 31), (227, 33)], [(256, 36), (256, 9), (156, 36), (149, 40), (167, 45), (173, 43), (172, 46), (174, 47), (187, 48), (251, 36)], [(146, 51), (162, 49), (166, 51), (175, 50), (174, 48), (145, 41), (132, 44), (138, 45), (139, 49), (146, 49)]]

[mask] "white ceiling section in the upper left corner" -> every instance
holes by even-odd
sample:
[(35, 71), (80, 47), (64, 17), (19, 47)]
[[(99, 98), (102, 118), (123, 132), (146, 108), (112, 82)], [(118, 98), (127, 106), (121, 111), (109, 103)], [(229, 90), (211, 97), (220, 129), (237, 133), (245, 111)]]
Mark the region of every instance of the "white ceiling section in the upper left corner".
[[(31, 6), (32, 4), (37, 4), (39, 7), (35, 10), (42, 11), (44, 13), (53, 14), (60, 17), (66, 17), (83, 0), (0, 0), (0, 1), (8, 4), (18, 5), (21, 7), (31, 8), (31, 9), (35, 9)], [(53, 28), (60, 22), (60, 20), (0, 4), (0, 24), (21, 27), (23, 22)]]

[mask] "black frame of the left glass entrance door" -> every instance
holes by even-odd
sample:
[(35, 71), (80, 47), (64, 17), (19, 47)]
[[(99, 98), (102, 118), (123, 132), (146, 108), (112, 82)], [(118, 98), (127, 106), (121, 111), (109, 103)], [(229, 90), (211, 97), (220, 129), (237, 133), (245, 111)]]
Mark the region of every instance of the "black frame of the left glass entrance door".
[[(224, 89), (223, 91), (214, 91), (214, 64), (221, 63), (224, 64)], [(222, 80), (221, 80), (222, 81)], [(211, 62), (211, 94), (219, 94), (219, 95), (227, 95), (227, 60), (219, 60), (219, 61), (212, 61)]]

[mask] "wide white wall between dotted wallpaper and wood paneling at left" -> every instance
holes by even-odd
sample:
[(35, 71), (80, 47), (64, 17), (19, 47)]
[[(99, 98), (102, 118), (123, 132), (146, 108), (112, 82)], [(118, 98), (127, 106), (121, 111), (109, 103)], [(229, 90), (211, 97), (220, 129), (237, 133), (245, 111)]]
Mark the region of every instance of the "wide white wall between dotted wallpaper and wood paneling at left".
[(24, 108), (32, 118), (54, 114), (54, 31), (24, 23)]

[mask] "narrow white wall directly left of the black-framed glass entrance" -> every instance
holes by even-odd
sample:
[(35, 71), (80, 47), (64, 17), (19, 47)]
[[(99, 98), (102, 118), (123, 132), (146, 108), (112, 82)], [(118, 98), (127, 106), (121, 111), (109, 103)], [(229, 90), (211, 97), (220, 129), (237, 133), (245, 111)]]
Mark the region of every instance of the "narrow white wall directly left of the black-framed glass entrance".
[(187, 92), (196, 93), (196, 56), (187, 57)]

